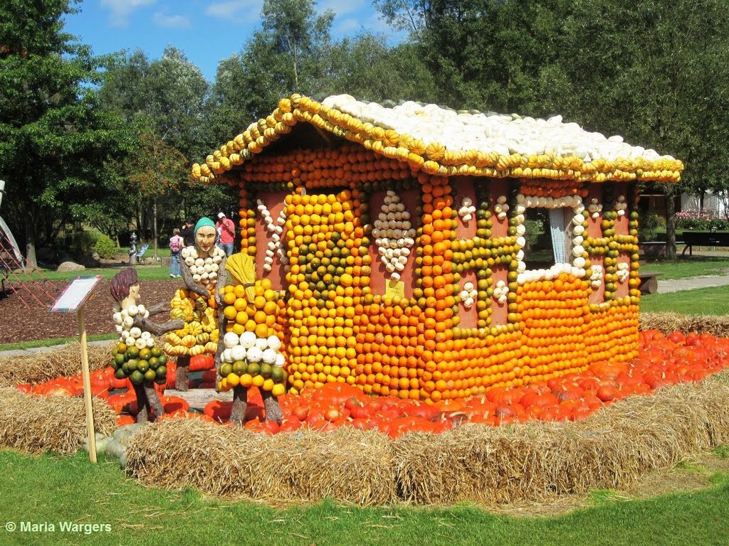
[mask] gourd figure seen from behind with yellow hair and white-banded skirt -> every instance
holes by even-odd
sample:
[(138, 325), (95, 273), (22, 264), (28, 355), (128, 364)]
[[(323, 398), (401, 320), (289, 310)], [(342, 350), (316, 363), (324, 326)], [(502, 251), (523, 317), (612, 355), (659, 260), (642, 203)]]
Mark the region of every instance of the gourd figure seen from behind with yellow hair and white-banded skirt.
[(278, 315), (278, 292), (270, 280), (256, 279), (256, 266), (245, 253), (227, 258), (225, 282), (219, 282), (217, 299), (220, 331), (225, 332), (215, 357), (218, 389), (233, 389), (230, 422), (245, 421), (249, 387), (258, 387), (265, 419), (281, 422), (278, 396), (286, 390), (285, 358), (273, 326)]

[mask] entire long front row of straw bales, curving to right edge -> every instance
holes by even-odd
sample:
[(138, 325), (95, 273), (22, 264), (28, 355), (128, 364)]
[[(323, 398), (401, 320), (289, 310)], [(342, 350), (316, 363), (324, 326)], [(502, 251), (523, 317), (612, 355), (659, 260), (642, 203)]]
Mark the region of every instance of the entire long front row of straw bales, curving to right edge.
[(660, 389), (574, 423), (486, 427), (388, 440), (346, 427), (273, 436), (166, 420), (130, 442), (127, 468), (150, 486), (358, 505), (486, 505), (625, 488), (644, 472), (729, 442), (729, 374)]

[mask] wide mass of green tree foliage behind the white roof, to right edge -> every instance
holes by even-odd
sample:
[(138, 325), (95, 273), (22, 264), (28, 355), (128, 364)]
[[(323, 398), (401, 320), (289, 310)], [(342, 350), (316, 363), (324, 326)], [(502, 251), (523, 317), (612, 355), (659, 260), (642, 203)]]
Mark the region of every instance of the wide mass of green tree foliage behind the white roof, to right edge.
[[(569, 121), (685, 162), (680, 186), (726, 192), (723, 0), (375, 0), (454, 108)], [(667, 199), (672, 203), (672, 199)], [(668, 211), (668, 237), (673, 215)]]

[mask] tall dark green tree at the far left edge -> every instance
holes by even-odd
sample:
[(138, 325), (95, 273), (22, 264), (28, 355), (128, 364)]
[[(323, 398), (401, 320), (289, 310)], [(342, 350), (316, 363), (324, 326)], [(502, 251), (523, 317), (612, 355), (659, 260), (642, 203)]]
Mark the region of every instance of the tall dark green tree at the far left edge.
[(32, 265), (39, 242), (52, 243), (103, 201), (114, 186), (104, 162), (130, 145), (121, 120), (98, 108), (93, 86), (109, 58), (63, 32), (62, 17), (77, 12), (76, 3), (0, 4), (0, 175)]

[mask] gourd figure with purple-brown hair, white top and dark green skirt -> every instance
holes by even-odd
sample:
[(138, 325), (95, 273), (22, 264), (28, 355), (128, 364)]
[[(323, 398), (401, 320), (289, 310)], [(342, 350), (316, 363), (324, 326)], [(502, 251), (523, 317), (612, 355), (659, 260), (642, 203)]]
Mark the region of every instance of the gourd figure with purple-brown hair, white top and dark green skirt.
[(149, 412), (156, 417), (165, 413), (155, 390), (155, 383), (167, 382), (167, 357), (155, 345), (155, 336), (182, 328), (184, 321), (157, 323), (149, 316), (168, 309), (165, 302), (149, 309), (140, 303), (139, 278), (132, 268), (117, 273), (111, 282), (114, 304), (114, 324), (120, 334), (112, 349), (112, 368), (117, 379), (128, 378), (137, 399), (137, 422), (147, 422)]

